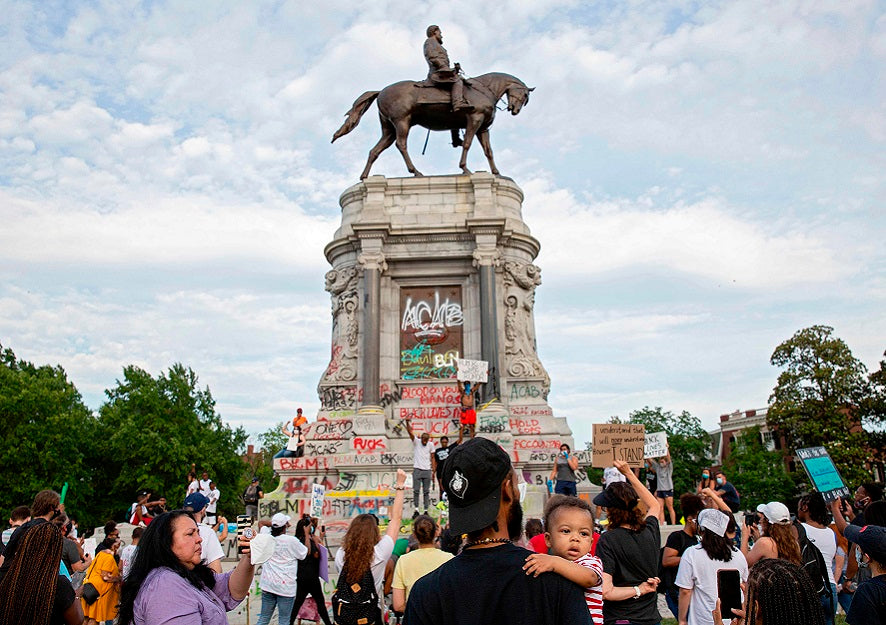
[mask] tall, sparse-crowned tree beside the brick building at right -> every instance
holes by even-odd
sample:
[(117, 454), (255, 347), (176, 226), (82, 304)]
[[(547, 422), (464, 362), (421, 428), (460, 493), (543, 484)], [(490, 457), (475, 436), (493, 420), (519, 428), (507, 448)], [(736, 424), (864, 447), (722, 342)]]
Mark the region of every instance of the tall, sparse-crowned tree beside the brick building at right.
[(767, 423), (788, 451), (824, 446), (851, 487), (871, 478), (869, 436), (873, 389), (864, 364), (829, 326), (798, 331), (775, 348), (771, 363), (783, 369), (769, 397)]

